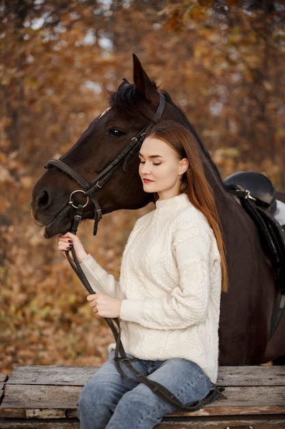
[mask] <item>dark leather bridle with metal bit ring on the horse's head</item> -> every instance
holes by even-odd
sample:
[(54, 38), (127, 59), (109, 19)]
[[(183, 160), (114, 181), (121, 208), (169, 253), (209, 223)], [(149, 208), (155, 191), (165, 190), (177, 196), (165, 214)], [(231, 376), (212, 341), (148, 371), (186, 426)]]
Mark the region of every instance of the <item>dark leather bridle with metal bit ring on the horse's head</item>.
[[(117, 156), (115, 160), (111, 162), (101, 173), (99, 173), (91, 182), (87, 182), (77, 171), (69, 167), (67, 164), (60, 160), (51, 160), (49, 161), (44, 168), (49, 169), (50, 167), (56, 167), (57, 169), (66, 173), (72, 179), (77, 182), (83, 189), (77, 189), (73, 191), (69, 196), (68, 204), (77, 209), (76, 215), (74, 215), (74, 221), (72, 224), (71, 232), (72, 234), (76, 234), (78, 225), (82, 218), (83, 208), (87, 206), (89, 199), (92, 200), (94, 204), (94, 235), (96, 235), (98, 222), (102, 219), (102, 210), (98, 203), (98, 198), (96, 195), (96, 191), (101, 189), (103, 185), (113, 177), (114, 173), (118, 170), (118, 168), (122, 165), (123, 170), (126, 171), (126, 166), (128, 161), (133, 157), (133, 155), (139, 150), (141, 144), (146, 137), (146, 132), (148, 128), (161, 119), (161, 115), (163, 114), (163, 110), (165, 108), (165, 97), (163, 94), (159, 93), (159, 106), (157, 111), (154, 114), (152, 121), (146, 125), (146, 127), (137, 134), (137, 136), (131, 138), (131, 142), (129, 145)], [(78, 204), (78, 206), (73, 201), (73, 196), (76, 193), (83, 193), (86, 197), (85, 204)]]

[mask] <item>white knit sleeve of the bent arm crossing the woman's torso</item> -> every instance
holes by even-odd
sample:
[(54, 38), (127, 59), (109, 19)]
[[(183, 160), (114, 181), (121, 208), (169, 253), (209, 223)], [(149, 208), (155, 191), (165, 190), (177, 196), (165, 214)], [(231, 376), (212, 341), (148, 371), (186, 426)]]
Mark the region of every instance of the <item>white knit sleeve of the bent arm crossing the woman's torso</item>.
[(187, 222), (180, 224), (172, 246), (179, 284), (171, 293), (158, 298), (124, 299), (121, 319), (161, 330), (184, 329), (204, 322), (210, 299), (210, 234), (208, 223), (206, 228), (189, 228)]

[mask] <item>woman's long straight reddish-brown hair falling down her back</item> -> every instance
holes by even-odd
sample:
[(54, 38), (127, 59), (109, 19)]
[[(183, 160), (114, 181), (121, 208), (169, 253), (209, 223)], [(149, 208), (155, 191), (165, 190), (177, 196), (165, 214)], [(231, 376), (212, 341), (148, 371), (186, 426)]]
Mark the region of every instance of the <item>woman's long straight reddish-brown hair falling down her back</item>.
[(182, 176), (180, 193), (187, 194), (189, 201), (203, 213), (215, 234), (221, 256), (221, 290), (226, 292), (228, 290), (228, 271), (223, 234), (213, 197), (213, 189), (206, 180), (198, 143), (187, 128), (174, 121), (164, 121), (155, 125), (148, 136), (155, 136), (163, 140), (176, 151), (180, 160), (187, 158), (189, 161), (189, 168)]

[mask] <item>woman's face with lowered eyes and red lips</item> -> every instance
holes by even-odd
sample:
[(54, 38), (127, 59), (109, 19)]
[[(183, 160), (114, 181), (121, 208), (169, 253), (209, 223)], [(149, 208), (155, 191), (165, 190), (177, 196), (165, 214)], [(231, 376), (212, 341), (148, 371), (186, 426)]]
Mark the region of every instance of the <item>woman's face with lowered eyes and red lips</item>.
[(180, 160), (167, 143), (149, 136), (141, 145), (139, 160), (139, 175), (145, 192), (158, 193), (159, 199), (179, 194), (182, 175), (189, 166), (187, 158)]

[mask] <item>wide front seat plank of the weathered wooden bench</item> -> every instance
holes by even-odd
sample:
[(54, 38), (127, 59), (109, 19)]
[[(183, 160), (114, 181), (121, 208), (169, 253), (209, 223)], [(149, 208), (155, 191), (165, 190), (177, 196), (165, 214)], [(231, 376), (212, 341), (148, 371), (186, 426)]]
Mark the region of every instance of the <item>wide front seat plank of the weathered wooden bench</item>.
[[(76, 415), (76, 403), (82, 387), (30, 386), (7, 384), (0, 406), (0, 417), (64, 418)], [(227, 387), (226, 399), (217, 400), (195, 413), (176, 413), (182, 416), (201, 415), (258, 415), (284, 414), (284, 387)]]

